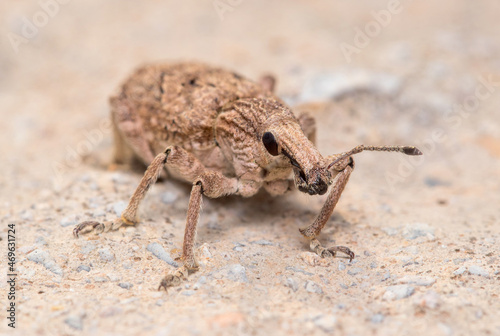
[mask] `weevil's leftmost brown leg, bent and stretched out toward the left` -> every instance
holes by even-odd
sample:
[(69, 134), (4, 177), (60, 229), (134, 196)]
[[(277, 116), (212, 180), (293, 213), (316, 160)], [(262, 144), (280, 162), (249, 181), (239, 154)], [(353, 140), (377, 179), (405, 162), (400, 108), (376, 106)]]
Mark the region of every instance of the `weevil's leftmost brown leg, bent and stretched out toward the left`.
[(125, 208), (122, 212), (120, 218), (103, 223), (95, 221), (82, 222), (73, 230), (75, 237), (78, 237), (78, 235), (82, 232), (88, 232), (91, 230), (105, 232), (109, 230), (117, 230), (123, 224), (135, 225), (139, 221), (137, 218), (139, 204), (144, 199), (144, 196), (146, 196), (146, 193), (151, 185), (153, 185), (158, 179), (158, 176), (162, 172), (165, 164), (168, 164), (169, 167), (173, 168), (179, 167), (182, 177), (187, 181), (194, 181), (196, 176), (198, 176), (205, 169), (198, 159), (184, 149), (178, 146), (168, 147), (163, 153), (158, 154), (153, 159), (153, 162), (151, 162), (148, 169), (144, 173), (139, 186), (137, 186), (134, 194), (130, 198), (127, 208)]

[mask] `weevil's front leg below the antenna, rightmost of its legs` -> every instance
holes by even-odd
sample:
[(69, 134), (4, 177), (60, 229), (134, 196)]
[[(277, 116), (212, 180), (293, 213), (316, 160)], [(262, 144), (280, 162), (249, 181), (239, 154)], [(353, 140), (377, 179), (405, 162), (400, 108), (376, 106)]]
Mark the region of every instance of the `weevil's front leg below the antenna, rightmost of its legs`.
[(349, 176), (351, 175), (353, 169), (354, 162), (349, 158), (348, 164), (337, 174), (337, 176), (335, 176), (333, 185), (330, 187), (330, 194), (328, 194), (326, 202), (321, 208), (321, 211), (318, 217), (316, 217), (316, 220), (311, 225), (299, 229), (300, 233), (311, 240), (311, 250), (313, 250), (323, 258), (334, 257), (338, 251), (347, 254), (350, 260), (354, 258), (354, 252), (352, 252), (348, 247), (333, 246), (330, 248), (324, 248), (316, 238), (332, 215), (333, 209), (337, 205), (340, 195), (342, 195), (342, 192), (344, 191), (345, 185), (347, 184), (347, 181), (349, 180)]

